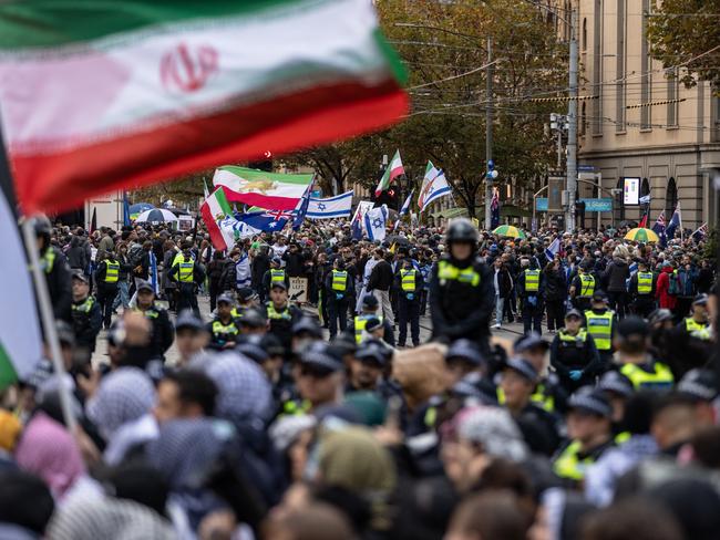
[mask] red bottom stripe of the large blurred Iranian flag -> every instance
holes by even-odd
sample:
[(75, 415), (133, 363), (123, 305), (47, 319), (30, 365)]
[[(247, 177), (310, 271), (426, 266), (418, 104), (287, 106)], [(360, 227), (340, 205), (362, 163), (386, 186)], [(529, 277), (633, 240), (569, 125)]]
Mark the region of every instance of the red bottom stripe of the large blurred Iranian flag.
[(25, 212), (62, 211), (113, 189), (379, 129), (407, 112), (394, 81), (339, 83), (71, 152), (11, 154), (11, 162)]

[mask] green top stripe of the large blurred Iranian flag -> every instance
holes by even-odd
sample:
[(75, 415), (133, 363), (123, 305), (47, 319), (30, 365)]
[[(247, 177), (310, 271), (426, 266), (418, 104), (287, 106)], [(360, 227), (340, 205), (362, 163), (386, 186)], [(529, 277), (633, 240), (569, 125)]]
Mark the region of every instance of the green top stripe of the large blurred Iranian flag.
[(58, 46), (198, 19), (260, 14), (278, 7), (308, 9), (333, 0), (6, 0), (0, 49)]

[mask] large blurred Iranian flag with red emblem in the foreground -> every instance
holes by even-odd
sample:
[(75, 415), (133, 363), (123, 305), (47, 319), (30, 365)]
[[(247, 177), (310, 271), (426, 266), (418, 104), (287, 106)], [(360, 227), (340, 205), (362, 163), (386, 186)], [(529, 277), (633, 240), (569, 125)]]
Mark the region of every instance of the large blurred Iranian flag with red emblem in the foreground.
[(25, 211), (384, 127), (370, 0), (3, 0), (0, 116)]

